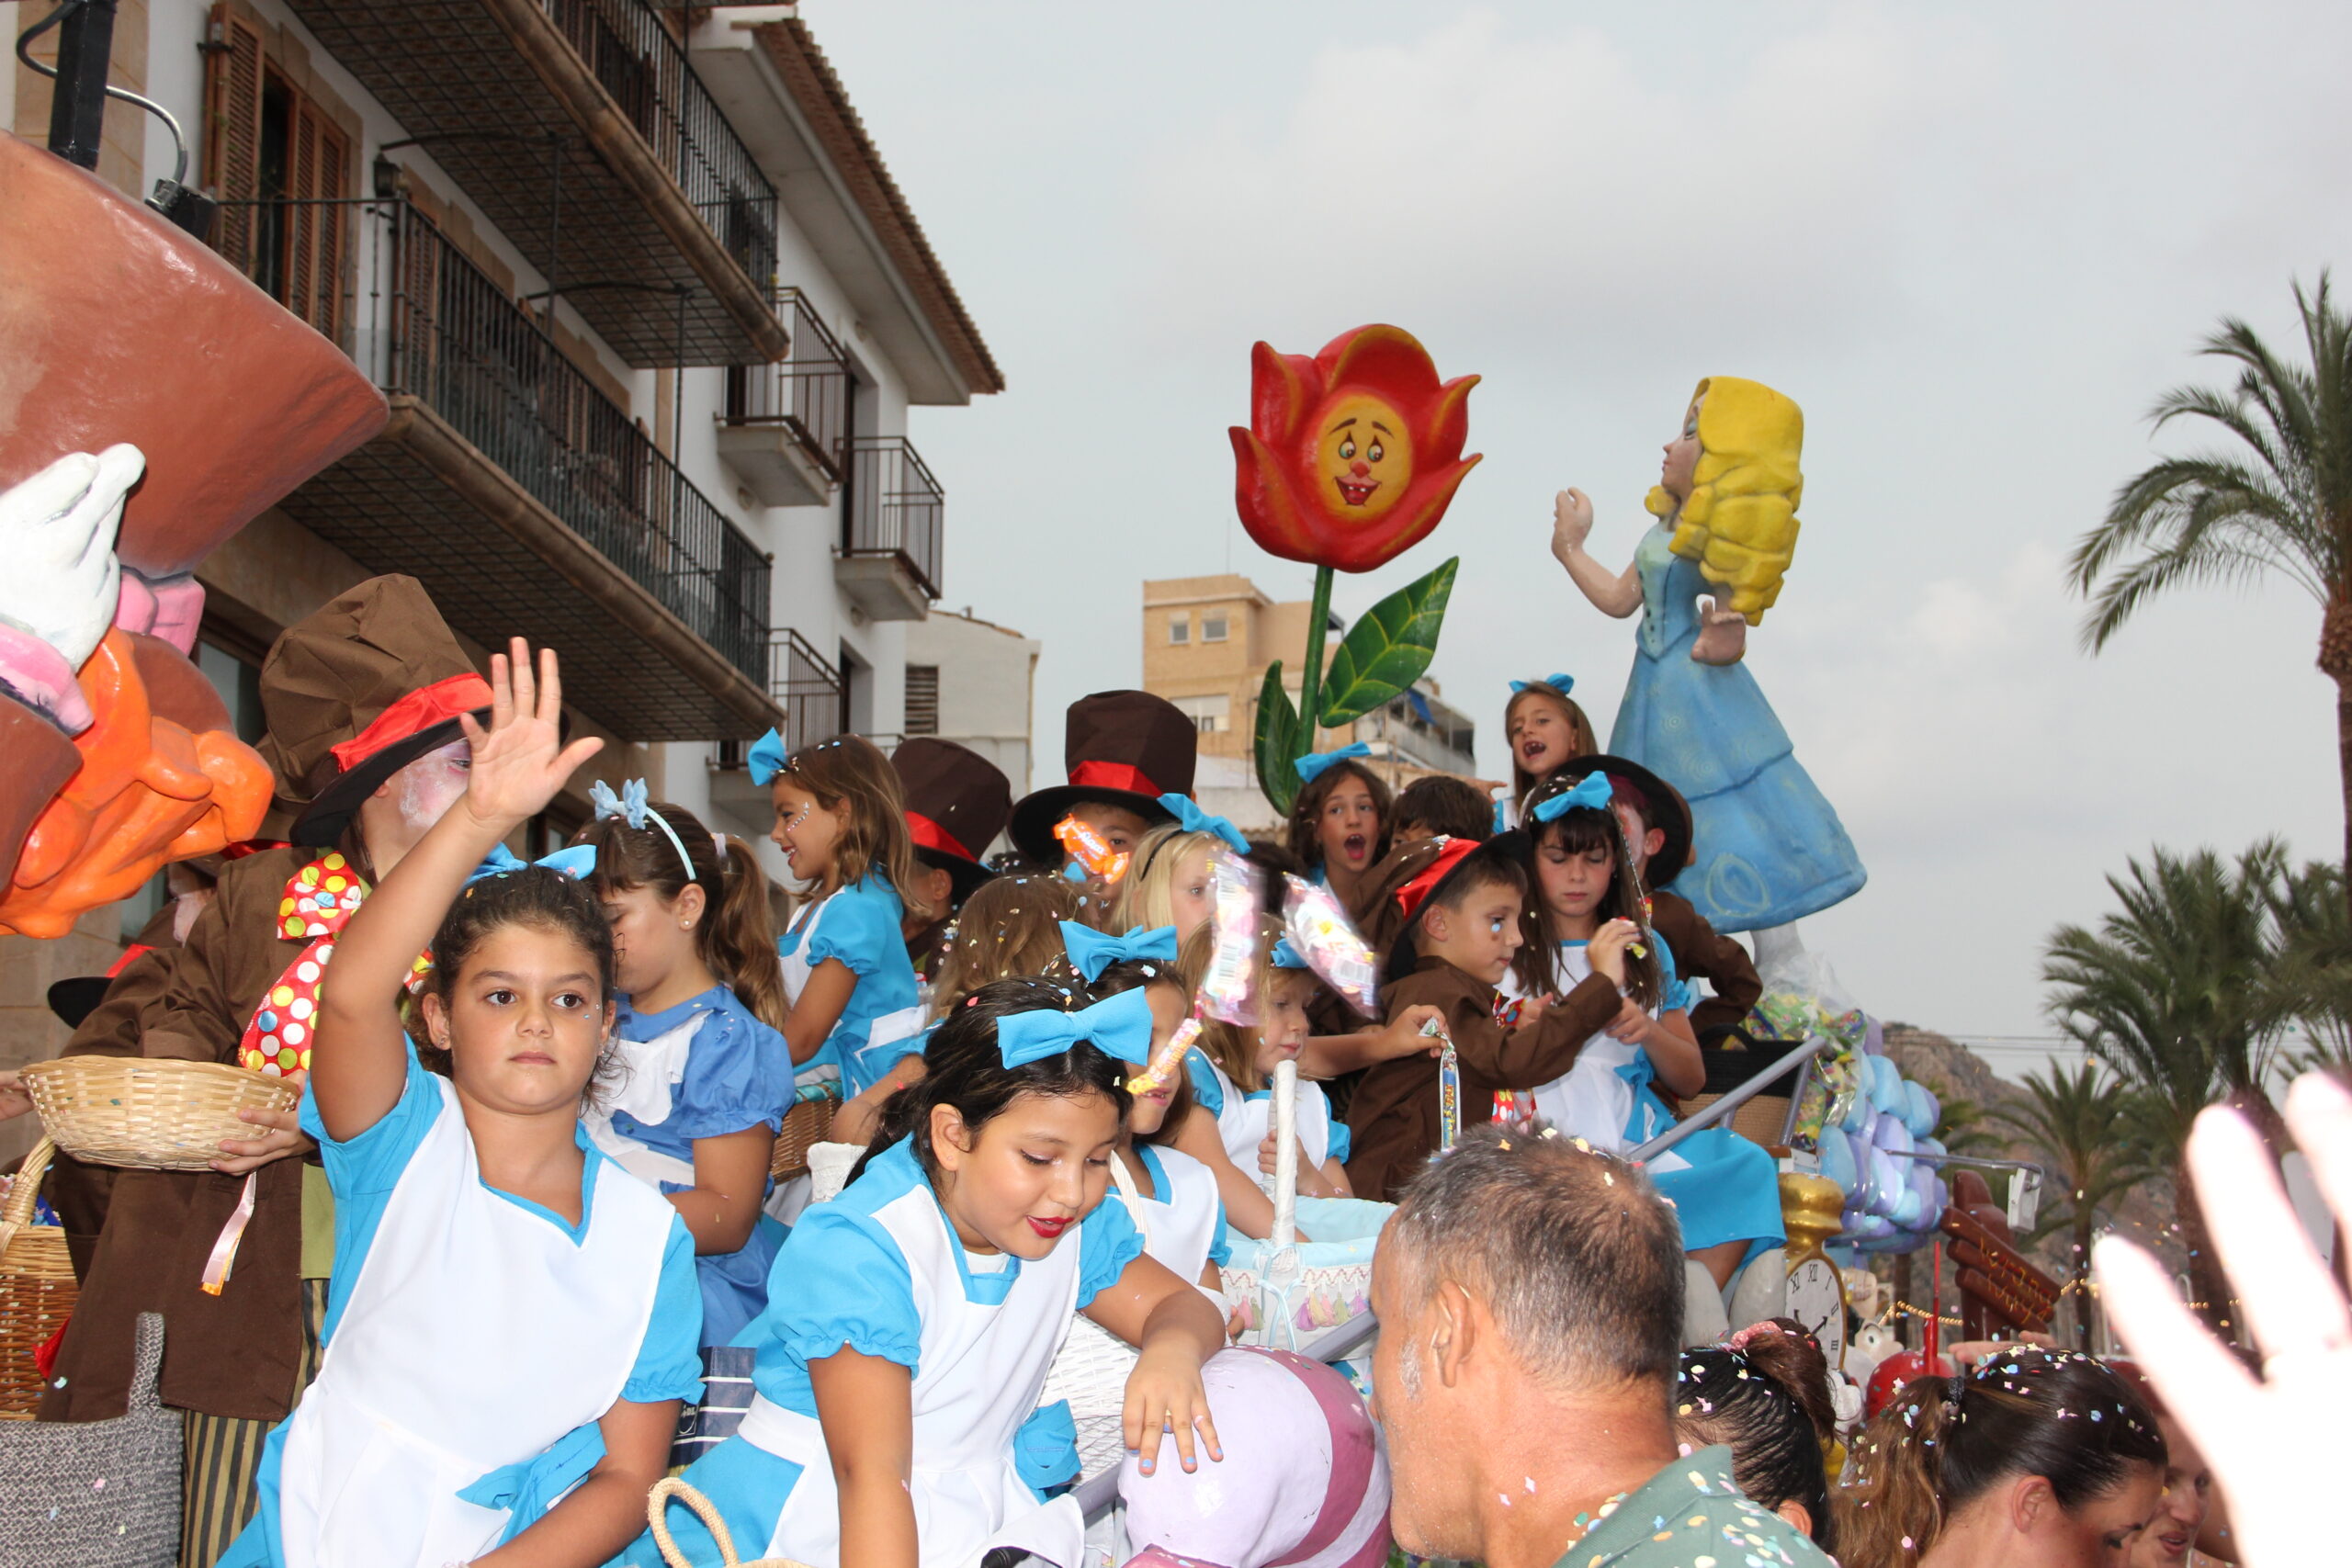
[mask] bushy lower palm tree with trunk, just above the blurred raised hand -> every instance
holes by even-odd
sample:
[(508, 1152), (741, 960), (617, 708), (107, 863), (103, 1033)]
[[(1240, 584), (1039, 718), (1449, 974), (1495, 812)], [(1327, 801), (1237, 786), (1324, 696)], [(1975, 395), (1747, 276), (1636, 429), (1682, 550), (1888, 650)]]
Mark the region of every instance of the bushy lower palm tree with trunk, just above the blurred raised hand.
[(2279, 1001), (2279, 884), (2286, 851), (2265, 839), (2223, 863), (2211, 849), (2157, 849), (2107, 877), (2122, 910), (2098, 929), (2060, 926), (2042, 959), (2058, 1027), (2110, 1063), (2145, 1100), (2145, 1121), (2173, 1175), (2173, 1215), (2190, 1279), (2213, 1324), (2227, 1284), (2206, 1246), (2204, 1215), (2180, 1164), (2197, 1112), (2241, 1105), (2277, 1138), (2265, 1079), (2291, 1013)]

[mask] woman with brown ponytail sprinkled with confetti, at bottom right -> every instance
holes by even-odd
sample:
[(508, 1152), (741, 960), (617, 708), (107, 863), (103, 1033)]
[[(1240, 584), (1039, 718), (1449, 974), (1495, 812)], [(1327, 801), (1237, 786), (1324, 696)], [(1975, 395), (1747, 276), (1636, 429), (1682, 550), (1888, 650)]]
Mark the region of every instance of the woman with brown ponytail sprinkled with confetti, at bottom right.
[(1863, 1429), (1837, 1490), (1846, 1568), (2096, 1568), (2164, 1493), (2157, 1418), (2091, 1356), (2004, 1349), (1917, 1378)]

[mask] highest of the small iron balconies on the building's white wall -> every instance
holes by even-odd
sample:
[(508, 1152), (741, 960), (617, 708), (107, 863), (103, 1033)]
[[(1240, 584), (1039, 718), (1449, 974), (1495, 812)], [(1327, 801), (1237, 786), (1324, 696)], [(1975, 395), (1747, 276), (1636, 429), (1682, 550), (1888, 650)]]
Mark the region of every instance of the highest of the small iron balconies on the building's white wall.
[(849, 463), (849, 353), (800, 289), (776, 292), (793, 357), (727, 371), (720, 456), (767, 505), (818, 505)]

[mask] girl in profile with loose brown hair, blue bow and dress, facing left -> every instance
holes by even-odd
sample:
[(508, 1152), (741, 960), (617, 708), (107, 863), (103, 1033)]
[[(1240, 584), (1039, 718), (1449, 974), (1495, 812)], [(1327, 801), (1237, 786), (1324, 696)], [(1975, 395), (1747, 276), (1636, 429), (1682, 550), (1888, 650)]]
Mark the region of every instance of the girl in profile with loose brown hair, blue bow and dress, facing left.
[(767, 731), (748, 762), (776, 806), (767, 837), (793, 877), (814, 884), (776, 943), (793, 997), (783, 1037), (802, 1084), (840, 1079), (854, 1100), (908, 1056), (924, 1023), (898, 929), (906, 889), (915, 886), (906, 795), (889, 757), (861, 736), (786, 757), (776, 731)]

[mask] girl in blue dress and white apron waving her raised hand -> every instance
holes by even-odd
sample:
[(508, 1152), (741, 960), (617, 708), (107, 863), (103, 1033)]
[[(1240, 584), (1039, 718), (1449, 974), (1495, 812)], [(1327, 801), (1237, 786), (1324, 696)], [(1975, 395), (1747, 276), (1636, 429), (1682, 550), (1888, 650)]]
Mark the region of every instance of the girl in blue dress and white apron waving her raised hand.
[[(327, 1349), (233, 1568), (590, 1568), (642, 1528), (701, 1394), (694, 1237), (581, 1128), (612, 1065), (612, 931), (499, 844), (600, 743), (560, 745), (555, 654), (534, 682), (517, 639), (489, 686), (466, 795), (350, 917), (320, 999), (301, 1117), (336, 1199)], [(412, 1051), (428, 945), (433, 1046)]]

